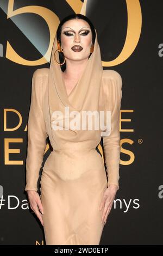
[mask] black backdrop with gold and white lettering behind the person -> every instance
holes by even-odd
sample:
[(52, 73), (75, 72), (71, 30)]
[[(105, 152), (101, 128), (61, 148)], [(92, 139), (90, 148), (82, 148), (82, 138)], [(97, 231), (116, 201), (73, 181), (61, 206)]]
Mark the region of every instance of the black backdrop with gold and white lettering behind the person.
[[(162, 0), (0, 0), (1, 245), (45, 245), (24, 193), (31, 80), (49, 68), (59, 22), (72, 13), (90, 18), (103, 69), (123, 82), (120, 190), (101, 245), (163, 244), (162, 9)], [(49, 153), (47, 141), (44, 162)]]

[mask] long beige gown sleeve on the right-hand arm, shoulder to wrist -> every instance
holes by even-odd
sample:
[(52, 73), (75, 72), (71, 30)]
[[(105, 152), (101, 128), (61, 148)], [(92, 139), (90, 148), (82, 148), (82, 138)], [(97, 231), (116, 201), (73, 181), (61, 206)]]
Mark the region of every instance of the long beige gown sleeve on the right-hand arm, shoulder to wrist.
[(111, 111), (111, 132), (109, 136), (103, 136), (104, 159), (108, 175), (108, 187), (110, 184), (114, 184), (119, 189), (122, 78), (114, 70), (108, 70), (106, 74), (104, 77), (105, 111)]

